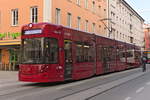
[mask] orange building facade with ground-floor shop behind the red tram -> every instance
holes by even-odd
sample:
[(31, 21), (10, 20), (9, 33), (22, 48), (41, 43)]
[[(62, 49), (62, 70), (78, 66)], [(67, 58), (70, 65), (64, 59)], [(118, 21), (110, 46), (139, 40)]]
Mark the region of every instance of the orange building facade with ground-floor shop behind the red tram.
[[(1, 0), (0, 70), (19, 64), (21, 26), (50, 22), (106, 36), (107, 0)], [(7, 5), (7, 6), (6, 6)]]

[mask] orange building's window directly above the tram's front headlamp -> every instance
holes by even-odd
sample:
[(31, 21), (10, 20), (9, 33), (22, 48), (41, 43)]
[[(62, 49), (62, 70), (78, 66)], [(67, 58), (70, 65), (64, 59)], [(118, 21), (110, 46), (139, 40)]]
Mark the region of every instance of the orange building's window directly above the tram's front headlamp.
[(37, 23), (38, 22), (38, 8), (37, 7), (31, 7), (31, 23)]

